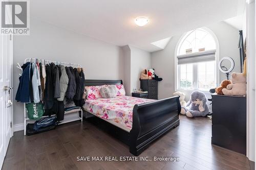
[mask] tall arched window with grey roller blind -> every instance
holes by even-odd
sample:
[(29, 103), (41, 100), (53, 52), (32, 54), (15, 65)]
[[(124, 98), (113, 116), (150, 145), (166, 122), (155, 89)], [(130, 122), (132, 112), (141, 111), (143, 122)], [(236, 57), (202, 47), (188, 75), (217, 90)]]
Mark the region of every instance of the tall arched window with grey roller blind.
[(216, 40), (205, 29), (189, 31), (177, 49), (177, 89), (208, 91), (216, 87)]

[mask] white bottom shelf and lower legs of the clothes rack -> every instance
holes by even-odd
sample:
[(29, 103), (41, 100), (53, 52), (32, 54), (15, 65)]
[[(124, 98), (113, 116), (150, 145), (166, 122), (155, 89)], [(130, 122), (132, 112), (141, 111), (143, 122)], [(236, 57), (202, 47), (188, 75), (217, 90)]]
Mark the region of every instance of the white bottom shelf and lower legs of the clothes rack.
[[(69, 123), (69, 122), (73, 122), (73, 121), (76, 121), (76, 120), (81, 120), (82, 122), (82, 109), (79, 108), (79, 109), (74, 109), (74, 110), (70, 110), (70, 111), (65, 111), (64, 114), (70, 114), (70, 113), (76, 113), (76, 117), (74, 118), (71, 118), (71, 119), (66, 119), (65, 118), (63, 120), (61, 120), (58, 125), (61, 125), (61, 124), (66, 124), (66, 123)], [(55, 114), (52, 114), (51, 116), (55, 116)], [(26, 127), (27, 127), (27, 124), (29, 123), (34, 123), (36, 122), (36, 120), (39, 120), (41, 118), (44, 118), (44, 117), (48, 117), (48, 116), (41, 116), (40, 118), (38, 119), (29, 119), (28, 118), (28, 111), (26, 109), (26, 104), (24, 104), (24, 135), (26, 135)]]

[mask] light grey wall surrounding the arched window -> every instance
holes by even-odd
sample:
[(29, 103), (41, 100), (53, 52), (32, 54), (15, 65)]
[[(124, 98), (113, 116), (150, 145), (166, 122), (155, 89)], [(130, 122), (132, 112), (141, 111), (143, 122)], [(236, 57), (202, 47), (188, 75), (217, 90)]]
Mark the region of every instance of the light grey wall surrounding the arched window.
[[(240, 72), (240, 55), (238, 48), (239, 32), (225, 22), (218, 22), (207, 26), (215, 33), (220, 46), (220, 58), (231, 57), (235, 62), (233, 71)], [(175, 48), (181, 35), (173, 36), (164, 50), (151, 54), (152, 67), (155, 68), (156, 74), (163, 78), (159, 82), (158, 98), (163, 99), (172, 96), (175, 91)], [(218, 69), (218, 67), (216, 67)], [(225, 74), (220, 73), (220, 82), (226, 79)], [(186, 101), (189, 99), (190, 92), (186, 92)], [(207, 95), (209, 97), (209, 95)]]

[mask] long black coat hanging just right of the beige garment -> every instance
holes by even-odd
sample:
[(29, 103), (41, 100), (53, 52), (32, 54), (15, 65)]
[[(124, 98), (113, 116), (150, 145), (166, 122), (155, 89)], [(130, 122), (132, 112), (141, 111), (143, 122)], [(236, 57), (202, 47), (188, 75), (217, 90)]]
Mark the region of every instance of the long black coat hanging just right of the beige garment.
[(54, 104), (54, 90), (52, 83), (51, 66), (47, 64), (46, 68), (46, 86), (44, 94), (45, 109), (51, 109)]

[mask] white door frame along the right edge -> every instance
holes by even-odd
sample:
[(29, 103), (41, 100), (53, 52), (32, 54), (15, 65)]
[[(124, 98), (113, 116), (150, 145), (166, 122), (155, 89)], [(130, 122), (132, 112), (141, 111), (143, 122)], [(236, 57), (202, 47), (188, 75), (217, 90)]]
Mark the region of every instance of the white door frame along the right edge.
[[(246, 3), (246, 58), (247, 58), (247, 133), (246, 133), (246, 156), (250, 161), (255, 161), (255, 2)], [(248, 81), (250, 80), (250, 81)]]

